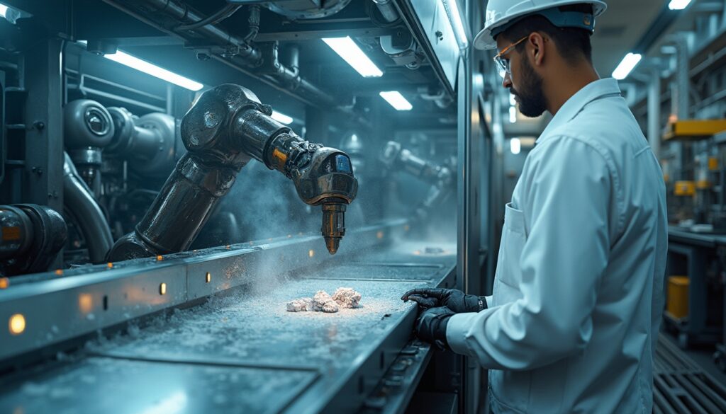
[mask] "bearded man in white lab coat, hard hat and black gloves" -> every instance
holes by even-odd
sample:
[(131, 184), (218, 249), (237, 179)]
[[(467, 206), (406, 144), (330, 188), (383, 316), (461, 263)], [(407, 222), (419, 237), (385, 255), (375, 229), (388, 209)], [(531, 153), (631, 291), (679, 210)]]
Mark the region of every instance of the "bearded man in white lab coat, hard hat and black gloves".
[(554, 115), (507, 204), (491, 297), (415, 289), (421, 339), (489, 368), (494, 413), (650, 413), (667, 249), (660, 166), (592, 67), (603, 1), (490, 0), (523, 115)]

